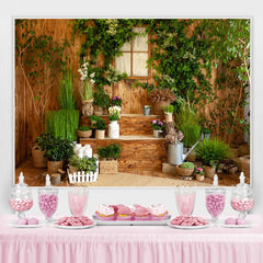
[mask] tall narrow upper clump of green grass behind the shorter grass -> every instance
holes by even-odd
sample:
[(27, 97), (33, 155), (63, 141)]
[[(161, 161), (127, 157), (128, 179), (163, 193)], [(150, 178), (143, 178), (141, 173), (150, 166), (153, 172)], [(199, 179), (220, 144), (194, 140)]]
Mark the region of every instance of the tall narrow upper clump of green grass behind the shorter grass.
[(72, 88), (72, 73), (70, 69), (65, 68), (58, 94), (58, 103), (61, 110), (76, 110), (76, 100)]

